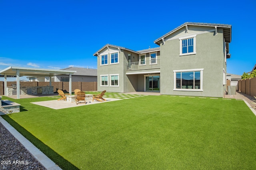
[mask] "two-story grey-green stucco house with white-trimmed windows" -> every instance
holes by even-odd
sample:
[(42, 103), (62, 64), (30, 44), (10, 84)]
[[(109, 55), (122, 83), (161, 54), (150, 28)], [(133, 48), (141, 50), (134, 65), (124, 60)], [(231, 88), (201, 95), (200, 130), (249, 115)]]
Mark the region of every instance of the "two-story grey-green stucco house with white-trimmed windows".
[(134, 51), (107, 44), (98, 57), (98, 90), (223, 97), (231, 25), (186, 22)]

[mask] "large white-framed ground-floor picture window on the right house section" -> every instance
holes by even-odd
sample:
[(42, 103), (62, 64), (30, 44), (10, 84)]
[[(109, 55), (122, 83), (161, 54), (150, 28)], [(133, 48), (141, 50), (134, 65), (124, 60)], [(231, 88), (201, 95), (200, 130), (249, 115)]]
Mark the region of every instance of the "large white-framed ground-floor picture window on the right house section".
[(203, 69), (174, 70), (174, 90), (202, 91)]

